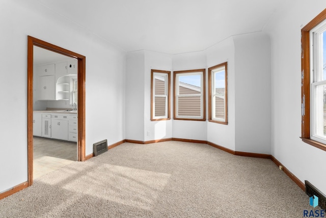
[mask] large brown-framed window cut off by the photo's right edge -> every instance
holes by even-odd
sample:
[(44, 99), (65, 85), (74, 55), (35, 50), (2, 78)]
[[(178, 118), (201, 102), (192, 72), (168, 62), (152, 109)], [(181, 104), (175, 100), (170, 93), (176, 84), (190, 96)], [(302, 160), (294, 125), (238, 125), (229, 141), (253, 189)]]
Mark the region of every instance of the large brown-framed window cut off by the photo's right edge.
[(302, 140), (326, 150), (326, 9), (301, 30)]

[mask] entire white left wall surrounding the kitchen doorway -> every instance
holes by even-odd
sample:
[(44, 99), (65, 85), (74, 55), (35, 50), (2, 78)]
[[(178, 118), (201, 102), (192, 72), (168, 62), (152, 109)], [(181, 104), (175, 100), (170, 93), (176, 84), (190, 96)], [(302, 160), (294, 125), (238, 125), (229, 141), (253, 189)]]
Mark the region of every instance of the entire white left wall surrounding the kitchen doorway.
[(86, 56), (86, 154), (125, 139), (125, 52), (34, 0), (1, 1), (0, 29), (0, 192), (27, 181), (28, 35)]

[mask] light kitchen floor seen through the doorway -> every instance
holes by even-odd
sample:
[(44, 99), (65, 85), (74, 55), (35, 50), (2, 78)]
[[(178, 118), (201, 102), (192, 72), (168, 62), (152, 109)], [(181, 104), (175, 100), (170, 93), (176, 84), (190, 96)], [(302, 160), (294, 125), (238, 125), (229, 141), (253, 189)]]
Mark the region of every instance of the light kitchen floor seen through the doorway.
[(77, 143), (33, 137), (33, 178), (77, 161)]

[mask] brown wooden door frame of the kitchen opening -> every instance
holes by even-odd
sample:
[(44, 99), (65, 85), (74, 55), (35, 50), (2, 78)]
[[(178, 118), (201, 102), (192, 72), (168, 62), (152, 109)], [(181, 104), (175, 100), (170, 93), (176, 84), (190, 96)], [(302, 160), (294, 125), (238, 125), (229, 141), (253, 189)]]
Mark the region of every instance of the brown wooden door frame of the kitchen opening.
[(86, 57), (62, 47), (28, 36), (27, 56), (27, 139), (28, 185), (33, 184), (33, 46), (38, 46), (78, 60), (78, 161), (85, 161), (85, 78)]

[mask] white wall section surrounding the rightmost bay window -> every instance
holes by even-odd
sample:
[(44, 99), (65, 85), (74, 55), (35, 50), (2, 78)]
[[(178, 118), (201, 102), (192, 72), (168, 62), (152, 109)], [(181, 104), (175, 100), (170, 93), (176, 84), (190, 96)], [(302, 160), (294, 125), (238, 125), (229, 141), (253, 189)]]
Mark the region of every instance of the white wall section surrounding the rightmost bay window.
[[(206, 50), (207, 67), (228, 62), (228, 125), (207, 122), (207, 141), (235, 150), (234, 43), (229, 37)], [(208, 76), (208, 74), (207, 74)], [(208, 105), (208, 104), (207, 104)], [(207, 108), (208, 110), (208, 108)]]

